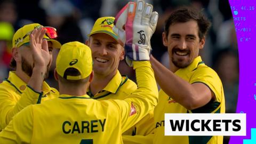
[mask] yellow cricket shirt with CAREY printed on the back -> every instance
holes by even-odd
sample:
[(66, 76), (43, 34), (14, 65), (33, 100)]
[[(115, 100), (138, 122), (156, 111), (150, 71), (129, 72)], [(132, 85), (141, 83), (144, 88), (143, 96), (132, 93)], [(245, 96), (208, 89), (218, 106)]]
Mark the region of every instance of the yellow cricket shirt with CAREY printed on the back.
[(149, 61), (134, 61), (138, 89), (124, 100), (60, 95), (30, 105), (0, 132), (0, 143), (123, 143), (122, 133), (153, 109), (158, 90)]

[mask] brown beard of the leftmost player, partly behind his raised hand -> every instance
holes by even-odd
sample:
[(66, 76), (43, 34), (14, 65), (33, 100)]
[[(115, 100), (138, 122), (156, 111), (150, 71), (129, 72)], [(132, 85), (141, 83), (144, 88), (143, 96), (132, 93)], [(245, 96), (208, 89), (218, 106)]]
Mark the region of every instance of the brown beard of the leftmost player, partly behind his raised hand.
[[(50, 64), (50, 63), (49, 63)], [(34, 63), (33, 63), (33, 66), (31, 66), (29, 64), (29, 62), (24, 58), (24, 57), (21, 57), (21, 69), (22, 71), (24, 71), (24, 73), (26, 73), (29, 77), (32, 76), (33, 74), (33, 68), (34, 68)], [(49, 76), (49, 69), (50, 69), (50, 66), (48, 65), (47, 66), (47, 70), (46, 70), (46, 73), (44, 74), (44, 80), (46, 78), (48, 78)]]

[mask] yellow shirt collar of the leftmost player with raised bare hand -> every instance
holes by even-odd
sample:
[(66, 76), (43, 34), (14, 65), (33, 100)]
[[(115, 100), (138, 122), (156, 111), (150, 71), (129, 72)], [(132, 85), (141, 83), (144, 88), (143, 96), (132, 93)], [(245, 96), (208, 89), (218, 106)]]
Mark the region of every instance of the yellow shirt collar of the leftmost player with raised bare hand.
[[(15, 89), (19, 91), (19, 93), (23, 93), (27, 86), (27, 84), (15, 74), (15, 71), (9, 72), (9, 77), (6, 79), (6, 81), (14, 86)], [(49, 93), (51, 91), (51, 87), (46, 82), (43, 82), (42, 91), (45, 94)]]

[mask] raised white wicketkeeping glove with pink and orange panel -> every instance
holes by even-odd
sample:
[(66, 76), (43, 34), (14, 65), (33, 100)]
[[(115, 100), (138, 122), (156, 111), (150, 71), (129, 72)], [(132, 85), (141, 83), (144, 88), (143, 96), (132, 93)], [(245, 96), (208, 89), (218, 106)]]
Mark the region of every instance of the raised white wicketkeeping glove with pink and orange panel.
[(118, 12), (113, 31), (124, 43), (126, 63), (149, 60), (151, 53), (150, 38), (155, 32), (158, 13), (152, 12), (153, 6), (138, 1), (129, 2)]

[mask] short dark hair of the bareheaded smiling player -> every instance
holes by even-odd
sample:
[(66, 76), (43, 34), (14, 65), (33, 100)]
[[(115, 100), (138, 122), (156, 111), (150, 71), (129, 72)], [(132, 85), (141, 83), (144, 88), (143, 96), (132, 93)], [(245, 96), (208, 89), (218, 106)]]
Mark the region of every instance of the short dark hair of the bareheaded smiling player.
[(169, 34), (169, 27), (174, 23), (178, 22), (188, 22), (190, 20), (195, 20), (198, 25), (198, 36), (200, 41), (205, 37), (207, 31), (211, 26), (211, 22), (205, 17), (202, 10), (199, 11), (192, 7), (180, 7), (177, 10), (174, 10), (169, 18), (166, 19), (164, 24), (164, 32), (166, 37)]

